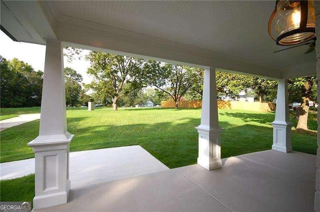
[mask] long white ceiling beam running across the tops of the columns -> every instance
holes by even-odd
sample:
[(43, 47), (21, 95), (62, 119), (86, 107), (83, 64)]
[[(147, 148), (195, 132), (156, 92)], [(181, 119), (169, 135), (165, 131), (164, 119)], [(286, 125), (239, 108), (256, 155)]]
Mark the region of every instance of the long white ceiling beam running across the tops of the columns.
[(66, 43), (106, 49), (119, 54), (135, 55), (173, 63), (212, 66), (255, 76), (281, 78), (281, 70), (255, 61), (225, 55), (180, 43), (145, 36), (71, 17), (56, 22), (57, 39)]

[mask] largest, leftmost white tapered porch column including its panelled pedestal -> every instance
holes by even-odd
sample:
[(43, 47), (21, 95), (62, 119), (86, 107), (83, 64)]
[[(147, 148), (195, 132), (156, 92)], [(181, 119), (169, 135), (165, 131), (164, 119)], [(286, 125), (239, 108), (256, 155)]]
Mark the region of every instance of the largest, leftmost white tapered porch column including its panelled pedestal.
[(48, 39), (45, 49), (39, 136), (28, 143), (35, 153), (33, 209), (67, 202), (69, 143), (66, 131), (64, 69), (61, 41)]

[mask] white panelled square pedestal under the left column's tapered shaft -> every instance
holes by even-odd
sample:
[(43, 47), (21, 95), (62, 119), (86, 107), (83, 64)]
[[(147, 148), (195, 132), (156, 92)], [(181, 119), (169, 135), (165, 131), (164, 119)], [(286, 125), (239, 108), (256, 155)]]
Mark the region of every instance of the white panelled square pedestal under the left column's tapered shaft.
[(35, 197), (33, 209), (67, 203), (69, 180), (69, 144), (73, 138), (68, 132), (60, 135), (38, 136), (28, 143), (35, 154)]

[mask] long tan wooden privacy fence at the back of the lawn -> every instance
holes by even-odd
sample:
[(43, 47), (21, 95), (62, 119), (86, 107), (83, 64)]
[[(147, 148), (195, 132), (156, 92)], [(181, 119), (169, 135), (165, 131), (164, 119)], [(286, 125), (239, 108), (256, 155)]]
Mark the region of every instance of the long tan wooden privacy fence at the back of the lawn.
[[(269, 112), (275, 110), (275, 104), (272, 102), (240, 102), (240, 101), (222, 101), (217, 100), (219, 109), (234, 109), (234, 110), (250, 110), (257, 112)], [(190, 100), (179, 102), (179, 108), (201, 108), (201, 100)], [(162, 101), (161, 107), (174, 108), (173, 101)]]

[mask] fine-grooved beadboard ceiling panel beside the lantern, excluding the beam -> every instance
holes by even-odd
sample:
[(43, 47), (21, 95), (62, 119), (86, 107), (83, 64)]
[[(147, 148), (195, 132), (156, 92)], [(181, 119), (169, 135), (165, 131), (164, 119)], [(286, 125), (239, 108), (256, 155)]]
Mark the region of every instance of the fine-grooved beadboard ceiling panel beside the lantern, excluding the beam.
[(267, 23), (273, 1), (55, 1), (55, 12), (284, 68), (315, 61), (307, 46), (279, 53)]

